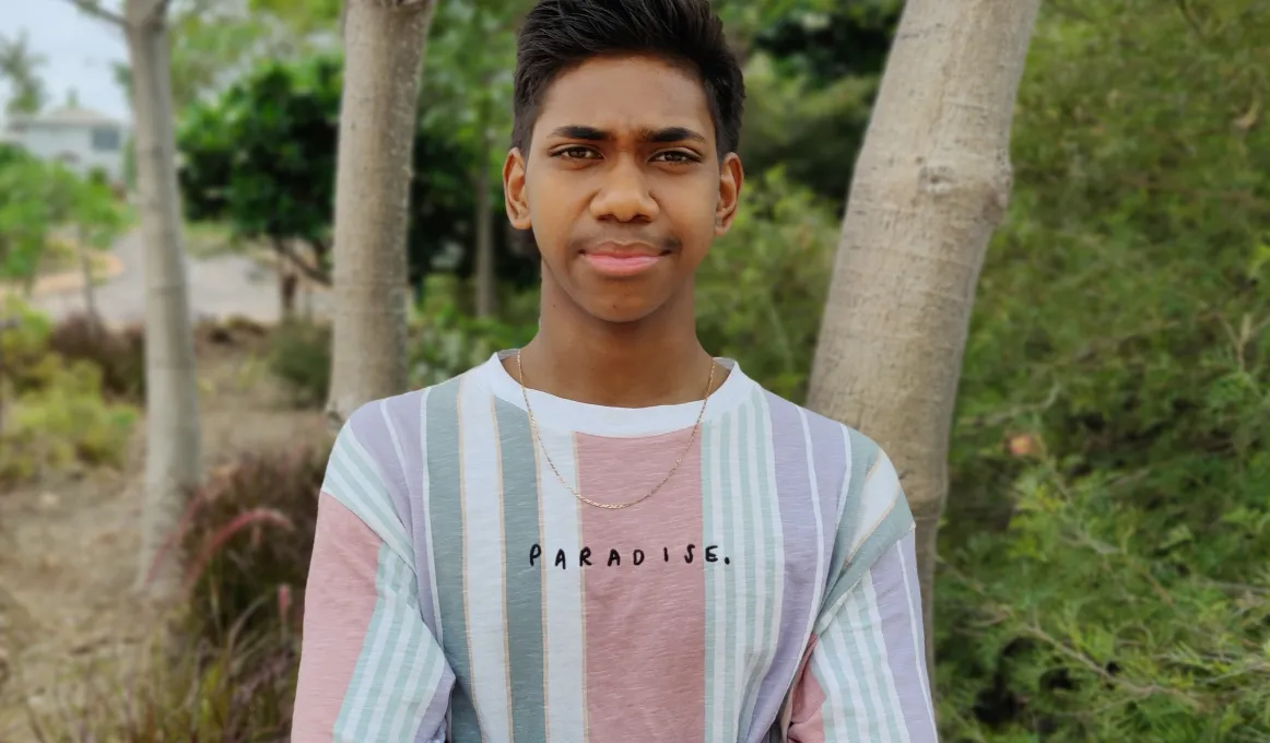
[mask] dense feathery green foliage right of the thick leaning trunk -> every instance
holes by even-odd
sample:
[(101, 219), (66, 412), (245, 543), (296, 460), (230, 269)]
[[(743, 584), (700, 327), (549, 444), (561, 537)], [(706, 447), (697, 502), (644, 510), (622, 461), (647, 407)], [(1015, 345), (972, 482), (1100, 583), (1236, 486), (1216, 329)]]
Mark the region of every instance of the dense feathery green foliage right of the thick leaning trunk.
[(952, 436), (951, 740), (1270, 735), (1266, 34), (1256, 0), (1043, 14)]

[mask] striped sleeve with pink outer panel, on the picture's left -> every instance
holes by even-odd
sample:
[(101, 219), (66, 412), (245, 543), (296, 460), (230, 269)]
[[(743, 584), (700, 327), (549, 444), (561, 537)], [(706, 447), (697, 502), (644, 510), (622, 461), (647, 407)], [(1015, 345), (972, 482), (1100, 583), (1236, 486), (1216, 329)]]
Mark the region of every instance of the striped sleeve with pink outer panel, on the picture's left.
[(305, 592), (293, 743), (439, 743), (455, 676), (419, 611), (405, 528), (345, 427)]

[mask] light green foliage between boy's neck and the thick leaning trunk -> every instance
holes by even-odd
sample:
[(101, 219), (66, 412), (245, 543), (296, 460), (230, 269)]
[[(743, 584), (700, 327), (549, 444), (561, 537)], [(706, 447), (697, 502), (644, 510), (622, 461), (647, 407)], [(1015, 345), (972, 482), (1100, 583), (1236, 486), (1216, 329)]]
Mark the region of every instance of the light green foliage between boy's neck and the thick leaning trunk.
[(820, 329), (838, 222), (781, 169), (751, 180), (740, 212), (697, 274), (697, 334), (711, 353), (792, 400)]

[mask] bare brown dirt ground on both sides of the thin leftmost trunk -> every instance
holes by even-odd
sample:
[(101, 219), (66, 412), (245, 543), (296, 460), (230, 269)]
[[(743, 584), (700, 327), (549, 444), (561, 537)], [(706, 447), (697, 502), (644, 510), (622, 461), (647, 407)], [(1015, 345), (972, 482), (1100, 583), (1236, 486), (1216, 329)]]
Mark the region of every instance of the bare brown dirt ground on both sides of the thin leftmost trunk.
[[(207, 466), (324, 425), (318, 412), (286, 409), (272, 380), (243, 353), (201, 358), (201, 367)], [(24, 646), (10, 658), (18, 673), (0, 685), (0, 743), (34, 742), (28, 705), (66, 709), (94, 668), (117, 667), (146, 639), (147, 622), (128, 598), (144, 437), (138, 429), (124, 471), (0, 493), (0, 635), (9, 631)]]

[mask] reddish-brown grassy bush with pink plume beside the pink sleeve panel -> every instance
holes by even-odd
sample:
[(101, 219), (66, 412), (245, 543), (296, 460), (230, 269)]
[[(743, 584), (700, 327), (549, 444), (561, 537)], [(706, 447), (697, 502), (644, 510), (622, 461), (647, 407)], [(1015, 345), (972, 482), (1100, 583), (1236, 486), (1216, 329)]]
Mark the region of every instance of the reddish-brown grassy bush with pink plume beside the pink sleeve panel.
[[(279, 596), (304, 606), (318, 493), (330, 446), (298, 445), (213, 470), (180, 527), (190, 619), (220, 646), (231, 629), (251, 633)], [(298, 626), (298, 625), (297, 625)]]

